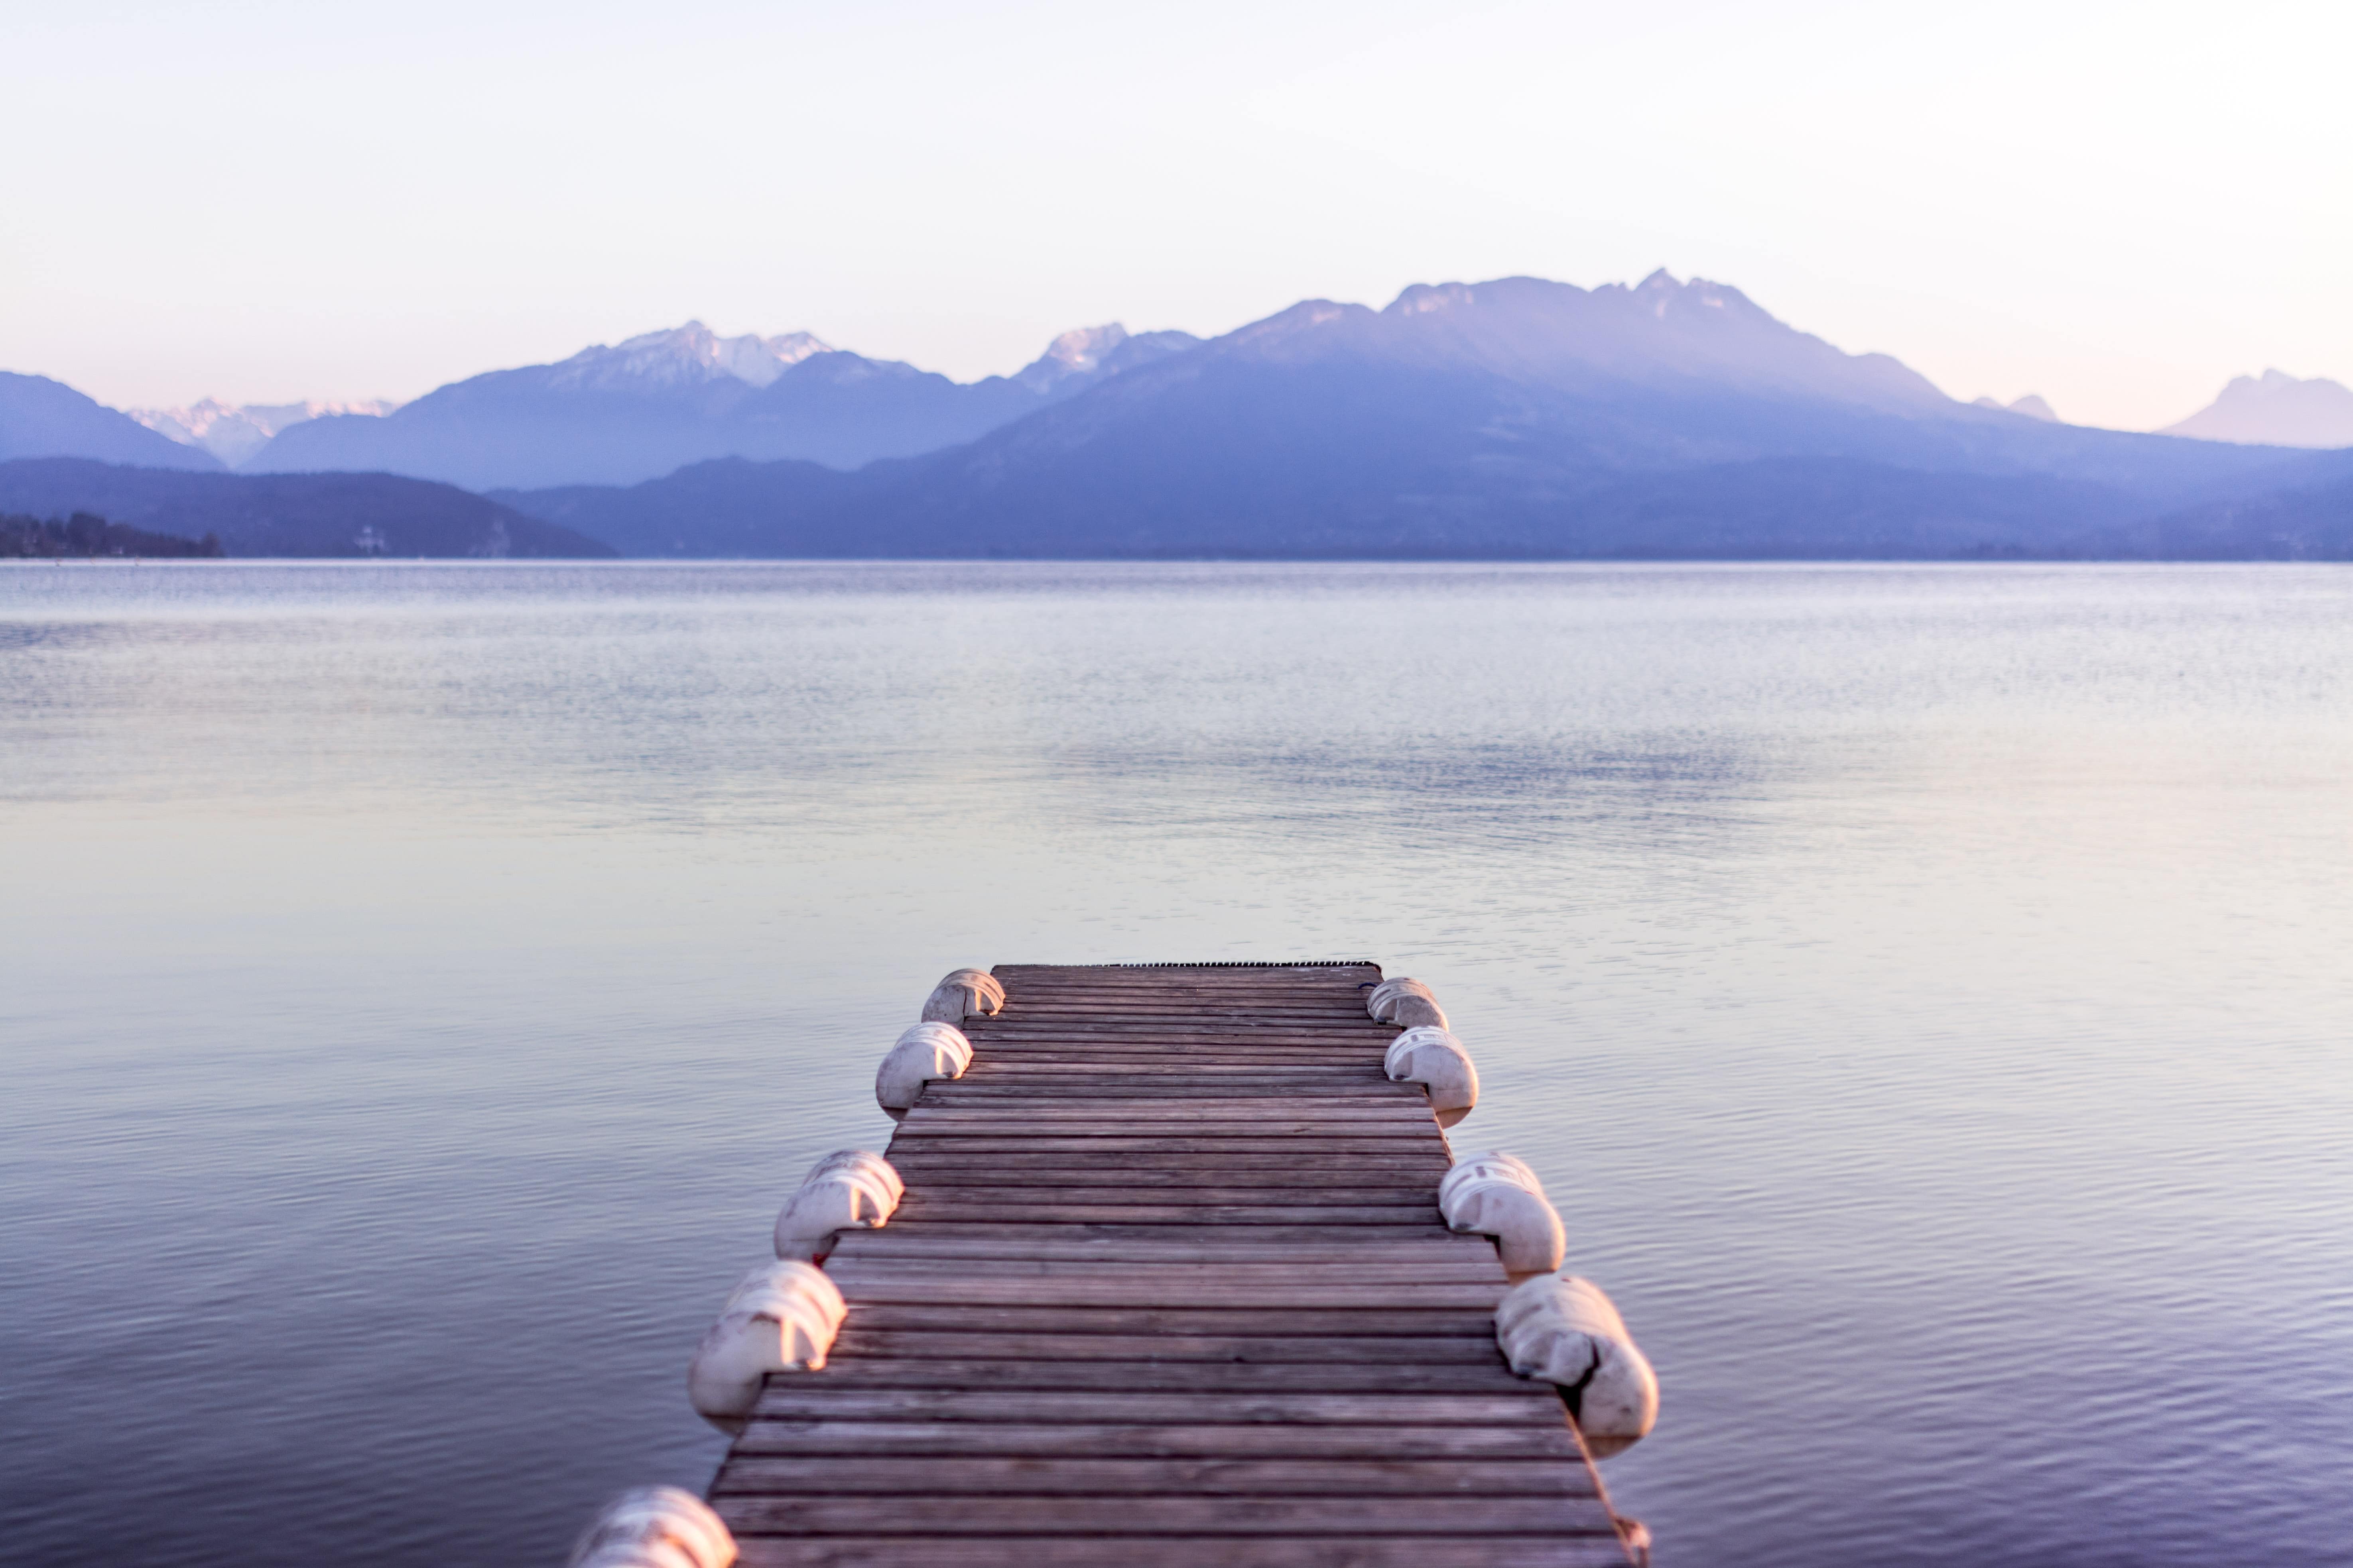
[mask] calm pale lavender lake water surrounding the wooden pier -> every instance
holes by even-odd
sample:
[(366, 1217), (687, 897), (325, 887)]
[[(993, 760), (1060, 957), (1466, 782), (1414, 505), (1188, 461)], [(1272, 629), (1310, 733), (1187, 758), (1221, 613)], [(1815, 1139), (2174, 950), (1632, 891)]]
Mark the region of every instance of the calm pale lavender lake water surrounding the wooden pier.
[(0, 1507), (560, 1563), (958, 964), (1431, 980), (1673, 1568), (2353, 1563), (2353, 571), (0, 569)]

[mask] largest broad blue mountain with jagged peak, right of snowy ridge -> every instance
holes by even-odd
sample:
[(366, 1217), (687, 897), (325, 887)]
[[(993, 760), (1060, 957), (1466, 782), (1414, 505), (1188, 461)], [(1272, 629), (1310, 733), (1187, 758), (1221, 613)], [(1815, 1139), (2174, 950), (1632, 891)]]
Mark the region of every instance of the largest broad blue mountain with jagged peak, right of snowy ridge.
[[(1946, 397), (1654, 273), (1301, 301), (965, 447), (504, 501), (631, 555), (2068, 555), (2294, 454)], [(2120, 545), (2122, 548), (2122, 545)]]

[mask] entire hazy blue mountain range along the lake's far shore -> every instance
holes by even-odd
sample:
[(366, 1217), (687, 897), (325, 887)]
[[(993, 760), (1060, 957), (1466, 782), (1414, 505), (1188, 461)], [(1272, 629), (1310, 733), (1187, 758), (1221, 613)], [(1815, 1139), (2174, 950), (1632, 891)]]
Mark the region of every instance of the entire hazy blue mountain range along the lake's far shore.
[[(306, 414), (240, 475), (5, 376), (0, 458), (132, 468), (0, 463), (0, 505), (238, 555), (2327, 557), (2353, 552), (2353, 451), (2245, 437), (2285, 409), (2322, 440), (2332, 397), (2268, 371), (2179, 435), (2089, 430), (1962, 404), (1729, 284), (1501, 277), (1212, 341), (1092, 327), (976, 383), (689, 322), (391, 414), (148, 411), (188, 440)], [(402, 505), (433, 527), (388, 531)]]

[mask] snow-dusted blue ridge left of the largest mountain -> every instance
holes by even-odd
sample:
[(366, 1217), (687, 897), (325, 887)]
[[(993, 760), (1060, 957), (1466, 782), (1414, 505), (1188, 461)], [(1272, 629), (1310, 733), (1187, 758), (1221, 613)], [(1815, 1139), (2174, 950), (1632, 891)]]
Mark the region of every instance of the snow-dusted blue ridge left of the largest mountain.
[(386, 418), (313, 418), (247, 473), (381, 470), (468, 489), (628, 484), (715, 456), (856, 468), (967, 442), (1106, 376), (1184, 353), (1184, 331), (1068, 331), (1012, 376), (958, 383), (807, 331), (722, 339), (701, 322), (489, 371)]

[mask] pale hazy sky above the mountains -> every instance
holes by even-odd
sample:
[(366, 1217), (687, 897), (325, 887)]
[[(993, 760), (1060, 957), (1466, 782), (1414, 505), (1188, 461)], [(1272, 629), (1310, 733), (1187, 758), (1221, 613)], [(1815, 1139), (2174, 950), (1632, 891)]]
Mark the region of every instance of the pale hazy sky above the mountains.
[(0, 367), (409, 397), (701, 317), (1054, 331), (1654, 266), (2146, 428), (2353, 381), (2353, 7), (0, 0)]

